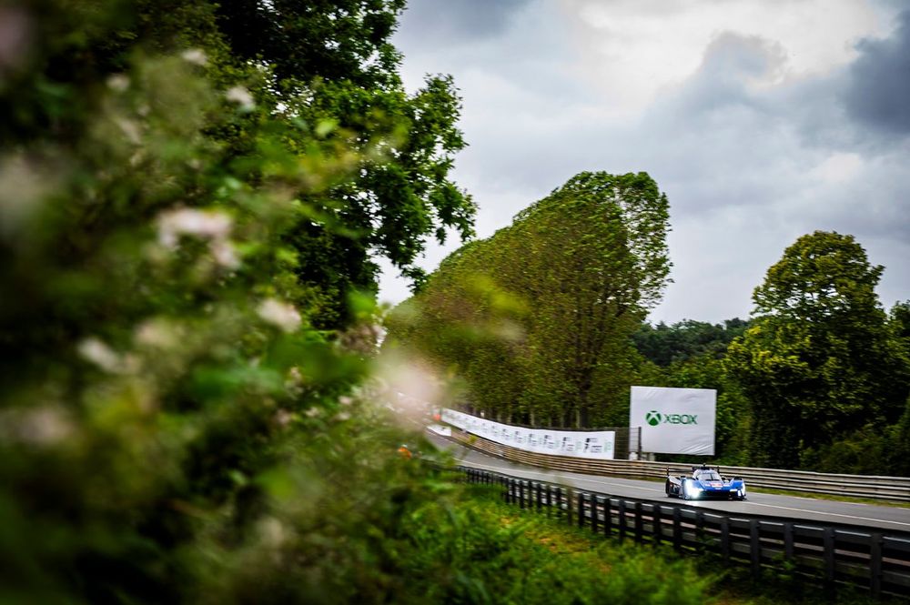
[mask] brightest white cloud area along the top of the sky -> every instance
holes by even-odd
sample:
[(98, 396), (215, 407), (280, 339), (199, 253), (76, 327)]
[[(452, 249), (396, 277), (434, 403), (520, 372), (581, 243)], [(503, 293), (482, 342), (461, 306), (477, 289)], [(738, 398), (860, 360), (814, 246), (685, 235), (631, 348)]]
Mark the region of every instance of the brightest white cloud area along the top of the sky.
[(612, 104), (635, 111), (699, 68), (704, 49), (732, 33), (781, 46), (787, 68), (764, 84), (824, 73), (855, 56), (852, 42), (875, 31), (875, 11), (856, 1), (726, 2), (562, 0), (581, 62), (576, 73)]

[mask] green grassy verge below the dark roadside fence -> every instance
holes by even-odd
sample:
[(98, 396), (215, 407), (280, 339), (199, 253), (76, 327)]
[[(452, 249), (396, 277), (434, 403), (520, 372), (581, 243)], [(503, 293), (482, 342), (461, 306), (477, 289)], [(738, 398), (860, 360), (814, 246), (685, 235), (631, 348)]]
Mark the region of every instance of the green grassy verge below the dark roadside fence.
[[(422, 509), (413, 519), (409, 576), (425, 602), (471, 603), (866, 603), (781, 572), (753, 580), (710, 556), (681, 557), (652, 545), (618, 543), (545, 514), (501, 503), (498, 490), (471, 486), (458, 509)], [(905, 601), (903, 601), (905, 602)]]

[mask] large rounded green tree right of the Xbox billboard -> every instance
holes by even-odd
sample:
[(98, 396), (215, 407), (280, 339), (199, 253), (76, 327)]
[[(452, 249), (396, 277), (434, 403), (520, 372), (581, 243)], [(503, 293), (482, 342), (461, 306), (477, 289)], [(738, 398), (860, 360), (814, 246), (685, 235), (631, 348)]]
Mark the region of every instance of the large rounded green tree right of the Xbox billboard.
[(755, 288), (753, 326), (728, 370), (752, 406), (753, 463), (799, 467), (818, 449), (902, 411), (904, 385), (875, 295), (883, 267), (852, 236), (800, 237)]

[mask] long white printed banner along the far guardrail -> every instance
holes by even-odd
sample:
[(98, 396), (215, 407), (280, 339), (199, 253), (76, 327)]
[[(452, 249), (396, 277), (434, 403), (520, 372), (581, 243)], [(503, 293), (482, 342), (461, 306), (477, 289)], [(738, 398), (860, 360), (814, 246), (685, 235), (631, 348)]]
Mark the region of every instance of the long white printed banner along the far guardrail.
[(443, 408), (442, 421), (484, 439), (540, 454), (575, 458), (613, 459), (616, 433), (612, 430), (525, 429)]

